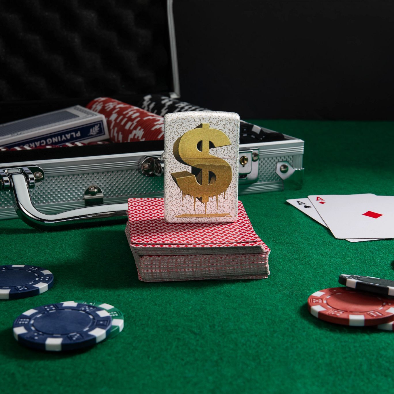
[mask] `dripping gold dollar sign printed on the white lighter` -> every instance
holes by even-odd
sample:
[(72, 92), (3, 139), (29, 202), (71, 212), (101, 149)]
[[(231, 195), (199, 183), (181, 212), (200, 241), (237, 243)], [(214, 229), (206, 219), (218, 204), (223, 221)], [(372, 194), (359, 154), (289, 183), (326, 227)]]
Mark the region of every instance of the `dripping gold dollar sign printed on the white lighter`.
[(229, 163), (217, 156), (209, 154), (210, 148), (231, 145), (230, 139), (221, 130), (210, 128), (209, 123), (203, 123), (197, 128), (187, 131), (174, 144), (173, 153), (178, 162), (191, 166), (191, 172), (180, 171), (171, 173), (175, 183), (182, 191), (182, 202), (185, 195), (205, 204), (205, 214), (182, 214), (177, 217), (217, 217), (227, 214), (206, 214), (206, 203), (209, 197), (226, 195), (232, 179)]

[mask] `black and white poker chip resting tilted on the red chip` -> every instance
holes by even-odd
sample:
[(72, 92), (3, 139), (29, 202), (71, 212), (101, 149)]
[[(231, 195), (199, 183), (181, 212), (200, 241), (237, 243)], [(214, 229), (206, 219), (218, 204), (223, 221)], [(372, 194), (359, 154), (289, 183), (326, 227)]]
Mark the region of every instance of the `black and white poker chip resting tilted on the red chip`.
[(372, 276), (339, 275), (338, 282), (364, 292), (394, 296), (394, 281)]

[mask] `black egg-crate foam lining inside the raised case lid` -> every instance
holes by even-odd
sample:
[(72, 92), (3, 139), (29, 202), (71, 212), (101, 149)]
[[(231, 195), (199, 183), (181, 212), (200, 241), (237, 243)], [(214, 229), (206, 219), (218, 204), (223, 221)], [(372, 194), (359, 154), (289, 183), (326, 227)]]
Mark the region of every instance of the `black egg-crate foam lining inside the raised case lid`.
[(0, 0), (0, 123), (168, 94), (165, 0)]

